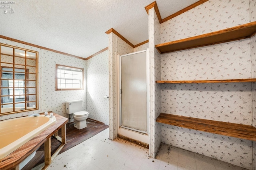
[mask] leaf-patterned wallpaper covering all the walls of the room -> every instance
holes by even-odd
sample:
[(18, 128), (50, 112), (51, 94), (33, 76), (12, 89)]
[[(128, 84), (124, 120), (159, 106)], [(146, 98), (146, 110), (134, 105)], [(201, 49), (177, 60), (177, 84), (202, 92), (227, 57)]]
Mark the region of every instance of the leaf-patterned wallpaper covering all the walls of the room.
[[(0, 43), (39, 52), (39, 109), (0, 115), (0, 120), (50, 110), (68, 117), (65, 101), (83, 99), (83, 109), (89, 112), (89, 117), (109, 124), (110, 139), (114, 139), (117, 133), (117, 55), (149, 48), (150, 156), (156, 155), (162, 142), (253, 170), (256, 165), (255, 141), (157, 123), (156, 118), (162, 112), (256, 127), (256, 83), (155, 83), (155, 80), (256, 78), (255, 35), (250, 39), (162, 55), (155, 49), (159, 43), (252, 21), (256, 21), (256, 0), (208, 0), (161, 24), (152, 8), (148, 16), (148, 43), (133, 49), (110, 33), (108, 50), (88, 61), (0, 39)], [(84, 68), (88, 87), (85, 85), (84, 90), (76, 91), (55, 91), (55, 64)], [(103, 99), (106, 94), (109, 94), (109, 100)], [(70, 121), (73, 121), (72, 116)]]

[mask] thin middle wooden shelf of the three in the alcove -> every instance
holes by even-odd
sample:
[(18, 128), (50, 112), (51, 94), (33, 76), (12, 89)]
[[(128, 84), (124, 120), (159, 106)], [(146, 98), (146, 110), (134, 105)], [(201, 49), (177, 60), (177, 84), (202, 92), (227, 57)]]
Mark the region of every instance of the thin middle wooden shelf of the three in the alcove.
[(256, 82), (256, 78), (229, 79), (229, 80), (157, 80), (156, 83), (232, 83), (232, 82)]

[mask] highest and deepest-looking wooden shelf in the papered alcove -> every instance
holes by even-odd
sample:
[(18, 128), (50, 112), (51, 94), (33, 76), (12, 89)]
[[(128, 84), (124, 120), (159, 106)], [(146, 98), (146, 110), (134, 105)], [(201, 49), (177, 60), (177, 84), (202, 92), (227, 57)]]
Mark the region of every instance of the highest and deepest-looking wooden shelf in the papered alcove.
[(206, 33), (195, 37), (171, 41), (156, 45), (159, 53), (170, 53), (207, 45), (236, 41), (239, 39), (250, 38), (256, 34), (256, 21), (238, 25), (236, 27), (222, 29), (212, 33)]

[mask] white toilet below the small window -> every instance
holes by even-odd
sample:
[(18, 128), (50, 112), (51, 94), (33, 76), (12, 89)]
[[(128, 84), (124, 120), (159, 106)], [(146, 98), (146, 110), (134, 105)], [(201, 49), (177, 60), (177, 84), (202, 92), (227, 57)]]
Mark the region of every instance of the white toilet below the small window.
[(72, 100), (66, 102), (66, 113), (72, 114), (74, 117), (74, 127), (76, 129), (84, 129), (87, 127), (86, 119), (89, 113), (87, 111), (82, 111), (83, 100)]

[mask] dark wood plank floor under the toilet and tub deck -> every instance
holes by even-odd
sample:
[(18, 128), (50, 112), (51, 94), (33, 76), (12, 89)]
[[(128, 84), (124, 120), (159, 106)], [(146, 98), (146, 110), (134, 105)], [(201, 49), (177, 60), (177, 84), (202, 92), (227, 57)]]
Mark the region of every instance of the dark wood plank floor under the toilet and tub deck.
[[(74, 122), (69, 123), (66, 125), (66, 145), (62, 148), (60, 153), (65, 152), (66, 150), (82, 143), (83, 141), (93, 137), (94, 135), (100, 133), (101, 131), (108, 128), (108, 125), (105, 125), (102, 122), (93, 120), (93, 119), (86, 119), (87, 127), (84, 129), (76, 129), (73, 125)], [(61, 131), (58, 131), (58, 135), (61, 136)], [(58, 149), (60, 146), (60, 141), (51, 137), (51, 145), (52, 145), (52, 153)], [(39, 161), (38, 161), (39, 160)], [(37, 151), (34, 158), (26, 164), (22, 168), (22, 170), (32, 169), (34, 166), (37, 166), (44, 162), (44, 145), (42, 145)]]

